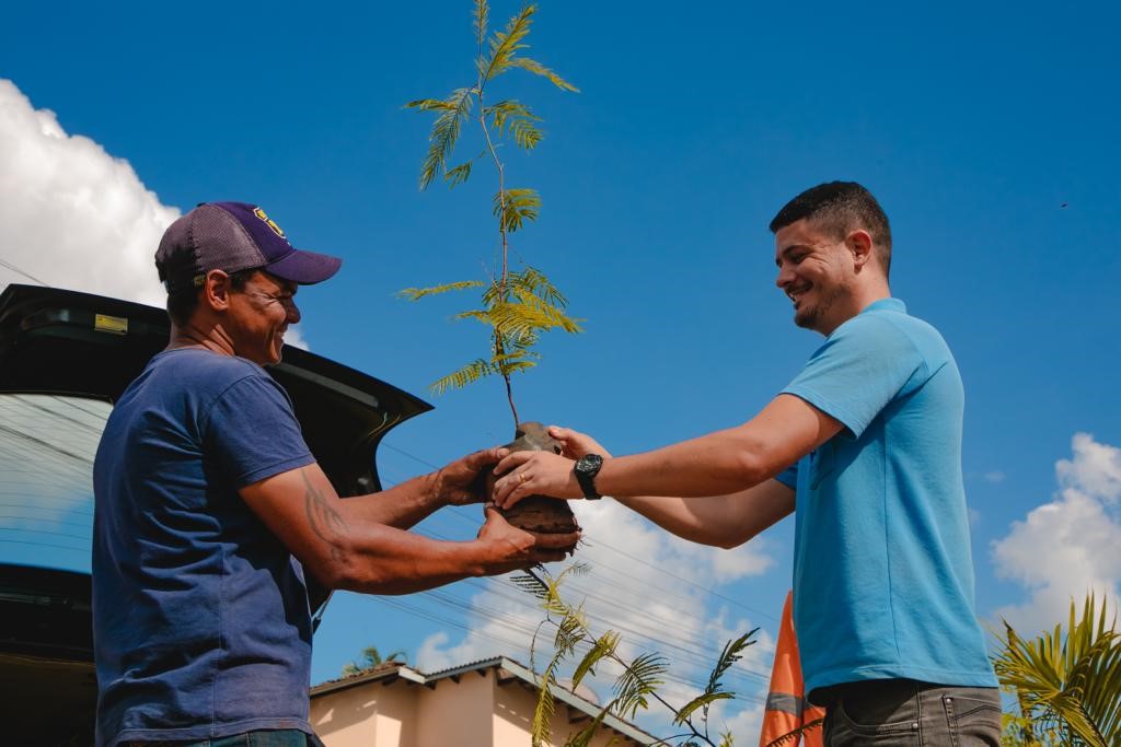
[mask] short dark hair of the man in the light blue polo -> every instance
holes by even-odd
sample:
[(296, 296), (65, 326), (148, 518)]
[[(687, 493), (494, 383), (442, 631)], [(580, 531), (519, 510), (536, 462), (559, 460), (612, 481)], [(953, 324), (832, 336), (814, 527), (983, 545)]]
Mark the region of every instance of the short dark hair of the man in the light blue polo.
[(782, 206), (770, 223), (771, 233), (803, 218), (837, 241), (849, 232), (863, 228), (872, 236), (876, 252), (887, 276), (891, 268), (891, 225), (888, 216), (868, 189), (855, 181), (827, 181), (810, 187)]

